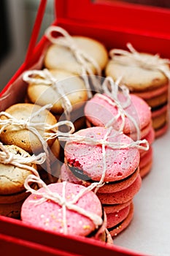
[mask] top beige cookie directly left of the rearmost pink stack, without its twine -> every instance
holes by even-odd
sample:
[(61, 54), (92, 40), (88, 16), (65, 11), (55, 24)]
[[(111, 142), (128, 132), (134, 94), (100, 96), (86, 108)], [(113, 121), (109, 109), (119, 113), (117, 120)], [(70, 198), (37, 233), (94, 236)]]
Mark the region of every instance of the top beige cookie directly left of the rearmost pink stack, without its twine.
[[(63, 70), (50, 70), (53, 77), (58, 80), (58, 88), (61, 86), (67, 99), (72, 104), (72, 110), (81, 108), (88, 99), (88, 93), (82, 78)], [(52, 86), (42, 84), (29, 84), (28, 99), (38, 105), (53, 104), (51, 111), (61, 115), (63, 113), (60, 90)], [(57, 91), (58, 90), (58, 91)]]

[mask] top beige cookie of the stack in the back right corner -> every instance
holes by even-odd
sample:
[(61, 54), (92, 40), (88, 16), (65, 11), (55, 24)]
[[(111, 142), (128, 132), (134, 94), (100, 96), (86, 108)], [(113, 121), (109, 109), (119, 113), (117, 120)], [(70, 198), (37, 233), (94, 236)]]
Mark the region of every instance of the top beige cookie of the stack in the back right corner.
[(136, 62), (128, 56), (119, 56), (119, 60), (126, 64), (110, 60), (106, 67), (106, 75), (113, 80), (121, 77), (121, 83), (128, 86), (130, 91), (150, 91), (168, 83), (168, 78), (161, 71), (137, 67)]

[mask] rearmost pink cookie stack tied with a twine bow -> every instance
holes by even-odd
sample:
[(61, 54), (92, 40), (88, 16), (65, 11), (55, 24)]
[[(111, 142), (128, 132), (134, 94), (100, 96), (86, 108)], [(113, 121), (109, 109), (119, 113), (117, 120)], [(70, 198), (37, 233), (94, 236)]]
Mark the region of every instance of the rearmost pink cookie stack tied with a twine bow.
[(140, 150), (140, 175), (144, 177), (152, 167), (152, 143), (155, 138), (152, 129), (151, 111), (147, 102), (129, 94), (126, 86), (119, 86), (107, 77), (102, 89), (104, 94), (95, 94), (85, 105), (88, 127), (113, 127), (133, 140), (146, 139), (150, 144), (148, 151)]

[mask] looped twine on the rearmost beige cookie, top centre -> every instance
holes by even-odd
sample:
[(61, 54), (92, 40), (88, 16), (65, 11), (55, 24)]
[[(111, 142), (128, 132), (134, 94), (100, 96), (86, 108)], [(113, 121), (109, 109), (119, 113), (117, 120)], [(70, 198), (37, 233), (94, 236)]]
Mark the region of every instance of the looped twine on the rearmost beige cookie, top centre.
[[(58, 37), (58, 38), (53, 37), (53, 32), (58, 32), (63, 37)], [(69, 50), (73, 53), (74, 58), (77, 60), (77, 62), (81, 66), (82, 78), (85, 81), (85, 86), (86, 86), (86, 89), (88, 90), (88, 97), (89, 98), (92, 97), (92, 93), (90, 91), (90, 84), (89, 84), (87, 75), (90, 75), (90, 78), (93, 83), (93, 87), (96, 91), (98, 91), (100, 89), (100, 87), (98, 87), (98, 85), (99, 85), (98, 80), (97, 80), (96, 76), (93, 74), (93, 71), (89, 66), (89, 64), (92, 64), (93, 67), (95, 67), (95, 69), (96, 69), (96, 74), (98, 76), (101, 76), (101, 68), (99, 67), (96, 60), (93, 59), (91, 56), (89, 56), (87, 53), (85, 53), (83, 50), (78, 48), (78, 46), (77, 46), (76, 42), (74, 41), (74, 39), (72, 38), (72, 36), (70, 36), (70, 34), (65, 29), (62, 29), (59, 26), (50, 26), (49, 28), (47, 28), (47, 30), (45, 31), (45, 36), (53, 44), (62, 45), (66, 48), (69, 48)]]

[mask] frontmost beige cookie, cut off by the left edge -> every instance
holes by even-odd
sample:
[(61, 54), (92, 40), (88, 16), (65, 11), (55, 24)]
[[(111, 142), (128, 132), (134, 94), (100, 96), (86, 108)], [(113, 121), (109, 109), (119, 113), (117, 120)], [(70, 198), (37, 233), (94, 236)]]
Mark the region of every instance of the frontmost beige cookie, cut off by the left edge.
[[(18, 146), (7, 145), (5, 147), (11, 154), (24, 154), (26, 157), (30, 157), (30, 154)], [(35, 164), (30, 164), (30, 166), (36, 169)], [(25, 190), (24, 182), (27, 176), (32, 174), (31, 170), (26, 170), (12, 164), (0, 163), (0, 170), (0, 195), (12, 195), (23, 192)]]

